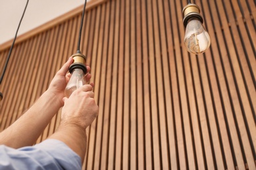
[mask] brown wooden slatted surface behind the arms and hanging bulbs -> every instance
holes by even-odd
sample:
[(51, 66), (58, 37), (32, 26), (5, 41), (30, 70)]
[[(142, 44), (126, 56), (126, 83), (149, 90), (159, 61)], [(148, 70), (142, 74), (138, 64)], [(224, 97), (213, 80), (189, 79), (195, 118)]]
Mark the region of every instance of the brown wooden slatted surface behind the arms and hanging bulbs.
[[(90, 3), (81, 51), (100, 113), (83, 169), (256, 169), (255, 1), (195, 0), (211, 36), (199, 56), (182, 42), (186, 1)], [(81, 10), (18, 37), (0, 86), (1, 131), (75, 52)], [(59, 122), (60, 111), (37, 143)]]

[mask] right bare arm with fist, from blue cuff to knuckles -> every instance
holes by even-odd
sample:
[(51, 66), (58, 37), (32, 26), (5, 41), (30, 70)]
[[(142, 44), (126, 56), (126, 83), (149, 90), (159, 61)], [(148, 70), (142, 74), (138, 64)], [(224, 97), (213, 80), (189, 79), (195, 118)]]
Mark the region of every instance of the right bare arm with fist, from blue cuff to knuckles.
[(70, 98), (64, 98), (62, 119), (58, 130), (49, 137), (66, 143), (76, 152), (81, 161), (85, 158), (87, 136), (85, 129), (98, 115), (98, 106), (95, 103), (93, 87), (85, 85), (75, 90)]

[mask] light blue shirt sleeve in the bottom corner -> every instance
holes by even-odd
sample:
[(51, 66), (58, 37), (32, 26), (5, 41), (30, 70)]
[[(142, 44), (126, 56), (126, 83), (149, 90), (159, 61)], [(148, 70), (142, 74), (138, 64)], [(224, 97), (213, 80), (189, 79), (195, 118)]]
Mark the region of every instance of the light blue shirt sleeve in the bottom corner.
[(81, 169), (81, 158), (55, 139), (18, 149), (0, 145), (0, 169)]

